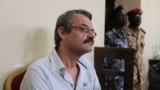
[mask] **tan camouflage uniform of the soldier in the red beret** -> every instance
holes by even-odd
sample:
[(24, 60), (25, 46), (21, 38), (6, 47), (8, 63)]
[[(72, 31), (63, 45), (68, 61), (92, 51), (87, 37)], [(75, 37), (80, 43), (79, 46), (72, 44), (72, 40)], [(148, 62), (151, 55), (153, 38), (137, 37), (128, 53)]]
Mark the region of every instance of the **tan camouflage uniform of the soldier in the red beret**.
[(134, 48), (137, 50), (135, 61), (134, 61), (134, 90), (141, 90), (142, 85), (145, 82), (145, 69), (143, 63), (143, 50), (144, 50), (144, 36), (145, 31), (141, 28), (139, 30), (134, 30), (137, 32), (133, 32), (133, 30), (128, 27), (127, 30), (124, 31), (125, 35), (128, 39), (128, 47)]

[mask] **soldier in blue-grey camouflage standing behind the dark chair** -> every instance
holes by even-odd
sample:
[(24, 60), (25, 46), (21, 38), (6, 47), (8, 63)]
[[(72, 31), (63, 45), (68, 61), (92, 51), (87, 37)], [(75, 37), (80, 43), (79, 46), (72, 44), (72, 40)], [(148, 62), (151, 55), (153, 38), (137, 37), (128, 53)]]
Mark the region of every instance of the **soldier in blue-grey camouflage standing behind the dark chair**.
[[(123, 34), (125, 26), (127, 25), (127, 14), (122, 5), (116, 7), (112, 14), (112, 29), (105, 34), (105, 46), (116, 48), (128, 48), (128, 42), (126, 36)], [(109, 59), (104, 58), (104, 68), (124, 71), (123, 59)], [(124, 78), (116, 76), (116, 90), (124, 90)], [(105, 77), (105, 90), (111, 90), (111, 77)]]

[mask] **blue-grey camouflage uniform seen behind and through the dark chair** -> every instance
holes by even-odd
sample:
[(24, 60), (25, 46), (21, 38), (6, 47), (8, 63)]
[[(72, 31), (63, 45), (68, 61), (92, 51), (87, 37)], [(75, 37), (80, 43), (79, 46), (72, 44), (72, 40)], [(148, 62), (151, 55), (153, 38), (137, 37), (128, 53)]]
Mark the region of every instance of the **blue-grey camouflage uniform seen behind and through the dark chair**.
[[(117, 48), (128, 48), (127, 38), (124, 34), (118, 33), (114, 28), (108, 31), (105, 35), (106, 47), (117, 47)], [(104, 58), (104, 68), (124, 71), (124, 60), (123, 59), (110, 59)], [(111, 90), (111, 78), (105, 77), (105, 90)], [(124, 78), (120, 76), (115, 77), (116, 90), (124, 90)]]

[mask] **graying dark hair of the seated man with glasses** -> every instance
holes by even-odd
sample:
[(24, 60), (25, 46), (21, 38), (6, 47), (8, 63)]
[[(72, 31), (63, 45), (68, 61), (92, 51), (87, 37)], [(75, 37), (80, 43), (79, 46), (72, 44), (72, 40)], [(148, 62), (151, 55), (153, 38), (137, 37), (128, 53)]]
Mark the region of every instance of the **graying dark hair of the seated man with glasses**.
[(62, 15), (60, 15), (57, 19), (56, 22), (56, 27), (55, 27), (55, 32), (54, 32), (54, 40), (55, 40), (55, 45), (56, 49), (60, 45), (61, 38), (58, 35), (58, 28), (63, 27), (65, 32), (70, 32), (71, 31), (71, 25), (73, 24), (73, 16), (75, 14), (83, 14), (86, 17), (88, 17), (90, 20), (92, 20), (92, 14), (86, 10), (82, 9), (77, 9), (77, 10), (69, 10)]

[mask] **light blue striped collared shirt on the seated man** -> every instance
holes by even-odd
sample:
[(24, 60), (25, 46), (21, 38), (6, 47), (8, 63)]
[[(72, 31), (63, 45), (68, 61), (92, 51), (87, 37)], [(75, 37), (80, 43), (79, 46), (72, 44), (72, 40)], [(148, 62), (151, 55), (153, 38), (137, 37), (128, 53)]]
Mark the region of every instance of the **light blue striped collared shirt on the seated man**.
[(22, 80), (20, 90), (101, 90), (93, 65), (83, 56), (76, 86), (64, 64), (53, 52), (31, 64)]

